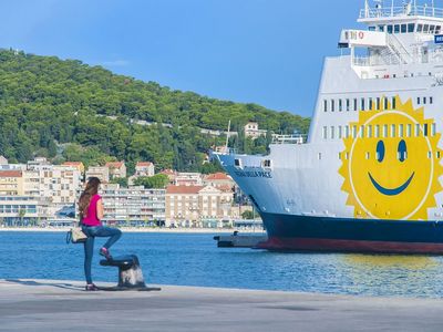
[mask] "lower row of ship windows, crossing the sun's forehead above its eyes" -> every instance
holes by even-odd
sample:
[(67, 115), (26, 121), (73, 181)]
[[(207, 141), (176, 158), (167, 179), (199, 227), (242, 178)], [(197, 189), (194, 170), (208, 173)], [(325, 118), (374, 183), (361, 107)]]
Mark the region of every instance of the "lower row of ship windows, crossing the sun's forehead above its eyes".
[[(336, 131), (337, 128), (337, 131)], [(431, 133), (430, 133), (431, 129)], [(391, 125), (361, 125), (358, 127), (353, 126), (323, 126), (322, 137), (323, 139), (334, 139), (334, 138), (387, 138), (387, 137), (414, 137), (420, 136), (435, 136), (436, 125), (435, 123), (431, 124), (431, 128), (425, 123), (423, 125), (415, 124), (391, 124)]]

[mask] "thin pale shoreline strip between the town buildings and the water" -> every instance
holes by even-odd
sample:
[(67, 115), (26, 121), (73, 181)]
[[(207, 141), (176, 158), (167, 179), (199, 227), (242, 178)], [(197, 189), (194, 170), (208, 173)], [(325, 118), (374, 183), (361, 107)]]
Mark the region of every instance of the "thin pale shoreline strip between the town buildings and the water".
[[(0, 227), (2, 231), (51, 231), (51, 232), (66, 232), (71, 227)], [(236, 229), (236, 228), (143, 228), (143, 227), (120, 227), (124, 232), (165, 232), (165, 234), (233, 234), (238, 231), (240, 234), (266, 234), (261, 229)]]

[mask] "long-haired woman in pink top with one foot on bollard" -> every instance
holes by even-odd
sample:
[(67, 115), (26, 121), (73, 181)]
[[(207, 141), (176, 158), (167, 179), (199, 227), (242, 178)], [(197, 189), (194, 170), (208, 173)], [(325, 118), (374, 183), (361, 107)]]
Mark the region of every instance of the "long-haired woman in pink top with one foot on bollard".
[(86, 291), (95, 291), (97, 287), (92, 282), (91, 266), (94, 251), (94, 238), (110, 238), (100, 249), (99, 253), (106, 259), (112, 259), (110, 248), (114, 245), (122, 231), (116, 228), (104, 227), (101, 222), (103, 218), (103, 201), (99, 195), (100, 179), (91, 177), (87, 180), (86, 188), (79, 199), (80, 220), (83, 232), (87, 236), (84, 242), (84, 274), (86, 277)]

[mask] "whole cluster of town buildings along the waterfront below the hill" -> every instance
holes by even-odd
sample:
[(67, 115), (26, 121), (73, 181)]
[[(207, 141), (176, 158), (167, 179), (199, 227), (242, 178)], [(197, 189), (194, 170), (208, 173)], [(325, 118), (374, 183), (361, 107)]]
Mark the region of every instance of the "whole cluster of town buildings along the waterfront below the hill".
[[(126, 177), (124, 162), (90, 166), (66, 162), (52, 165), (45, 158), (8, 164), (0, 158), (0, 225), (66, 225), (75, 221), (76, 201), (91, 176), (102, 180), (104, 221), (119, 226), (222, 227), (238, 218), (234, 181), (224, 173), (202, 175), (165, 169), (169, 185), (163, 189), (111, 184)], [(150, 162), (138, 162), (134, 175), (154, 176)]]

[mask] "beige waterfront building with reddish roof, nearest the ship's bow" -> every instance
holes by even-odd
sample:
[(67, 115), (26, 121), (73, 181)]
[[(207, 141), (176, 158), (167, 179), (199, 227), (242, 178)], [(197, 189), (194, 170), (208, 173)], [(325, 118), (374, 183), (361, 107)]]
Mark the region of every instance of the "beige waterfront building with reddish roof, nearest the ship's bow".
[(233, 194), (212, 186), (166, 187), (166, 225), (217, 227), (230, 219)]

